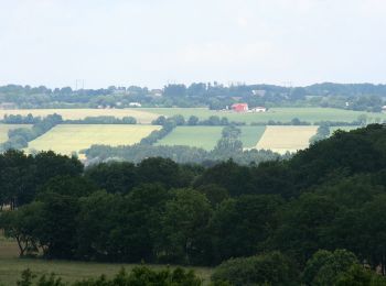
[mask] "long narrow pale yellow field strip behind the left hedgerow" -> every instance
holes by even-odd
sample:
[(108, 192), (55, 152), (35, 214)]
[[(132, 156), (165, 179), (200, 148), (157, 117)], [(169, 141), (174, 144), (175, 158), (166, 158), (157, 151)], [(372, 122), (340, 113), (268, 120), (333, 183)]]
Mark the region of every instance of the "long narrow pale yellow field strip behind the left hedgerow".
[(6, 114), (21, 114), (26, 116), (31, 113), (34, 117), (46, 117), (49, 114), (57, 113), (63, 119), (84, 119), (86, 117), (133, 117), (138, 123), (147, 124), (152, 120), (157, 119), (159, 114), (151, 113), (148, 111), (141, 111), (138, 109), (1, 109), (0, 118), (2, 119)]

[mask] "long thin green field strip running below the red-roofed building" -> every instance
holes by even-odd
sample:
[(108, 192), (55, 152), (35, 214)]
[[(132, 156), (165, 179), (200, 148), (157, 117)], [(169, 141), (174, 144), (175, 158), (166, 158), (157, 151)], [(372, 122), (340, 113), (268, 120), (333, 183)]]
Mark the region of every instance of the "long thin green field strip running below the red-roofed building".
[(366, 114), (369, 121), (375, 119), (386, 120), (386, 113), (374, 113), (364, 111), (352, 111), (333, 108), (271, 108), (261, 113), (236, 113), (232, 111), (215, 111), (207, 108), (141, 108), (140, 110), (150, 113), (175, 116), (182, 114), (187, 119), (190, 116), (196, 116), (200, 119), (207, 119), (211, 116), (226, 117), (232, 121), (243, 121), (247, 124), (251, 122), (267, 122), (268, 120), (288, 122), (293, 118), (302, 121), (345, 121), (352, 122), (361, 114)]

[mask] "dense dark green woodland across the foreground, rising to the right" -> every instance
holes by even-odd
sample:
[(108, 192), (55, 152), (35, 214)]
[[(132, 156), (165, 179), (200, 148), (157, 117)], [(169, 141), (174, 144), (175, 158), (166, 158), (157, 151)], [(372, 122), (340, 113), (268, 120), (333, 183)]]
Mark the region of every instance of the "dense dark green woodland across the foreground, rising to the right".
[(232, 285), (385, 285), (385, 160), (380, 124), (244, 166), (150, 157), (85, 168), (8, 151), (0, 223), (22, 256), (219, 265), (213, 280)]

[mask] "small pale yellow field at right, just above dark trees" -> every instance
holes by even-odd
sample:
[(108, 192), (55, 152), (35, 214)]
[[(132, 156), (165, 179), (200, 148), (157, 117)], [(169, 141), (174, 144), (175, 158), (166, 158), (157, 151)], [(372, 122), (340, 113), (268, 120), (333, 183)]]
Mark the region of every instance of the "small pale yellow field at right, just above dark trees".
[(318, 127), (267, 127), (256, 148), (265, 148), (280, 154), (307, 148), (309, 140)]

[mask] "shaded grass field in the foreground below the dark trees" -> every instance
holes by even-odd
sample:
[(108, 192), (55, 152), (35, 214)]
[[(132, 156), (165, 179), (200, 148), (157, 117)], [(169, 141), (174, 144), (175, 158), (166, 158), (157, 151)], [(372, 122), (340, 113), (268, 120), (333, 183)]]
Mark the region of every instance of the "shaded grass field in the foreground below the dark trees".
[[(46, 261), (40, 258), (19, 258), (18, 246), (12, 240), (7, 240), (0, 234), (0, 285), (17, 285), (22, 271), (30, 268), (33, 273), (42, 275), (55, 273), (63, 277), (64, 282), (75, 282), (85, 278), (98, 277), (106, 274), (108, 277), (117, 274), (121, 267), (130, 271), (138, 264), (94, 263), (73, 261)], [(164, 268), (165, 265), (148, 265), (152, 268)], [(174, 267), (174, 266), (171, 266)], [(195, 271), (208, 284), (212, 268), (187, 267)]]

